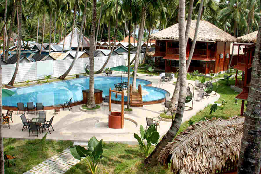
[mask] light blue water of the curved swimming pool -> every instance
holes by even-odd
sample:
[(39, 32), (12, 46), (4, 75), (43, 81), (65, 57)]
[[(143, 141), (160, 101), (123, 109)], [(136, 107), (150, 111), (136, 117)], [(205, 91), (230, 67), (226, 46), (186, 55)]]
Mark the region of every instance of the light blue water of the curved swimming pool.
[[(102, 96), (109, 95), (109, 88), (114, 89), (114, 84), (121, 82), (121, 77), (104, 77), (98, 76), (94, 78), (94, 88), (103, 90)], [(127, 77), (122, 77), (122, 81), (127, 81)], [(130, 80), (132, 83), (132, 78)], [(162, 99), (165, 97), (166, 90), (151, 86), (150, 81), (137, 79), (137, 87), (141, 84), (142, 89), (148, 92), (148, 95), (143, 95), (144, 102)], [(11, 97), (2, 98), (3, 106), (17, 106), (18, 102), (23, 102), (26, 106), (27, 102), (42, 102), (44, 106), (52, 106), (63, 104), (73, 97), (72, 102), (82, 100), (82, 90), (89, 88), (89, 77), (67, 80), (62, 82), (54, 82), (49, 84), (35, 85), (23, 88), (10, 89), (15, 92)], [(112, 93), (113, 100), (121, 100), (121, 95), (117, 99)], [(124, 101), (127, 101), (127, 96), (124, 96)]]

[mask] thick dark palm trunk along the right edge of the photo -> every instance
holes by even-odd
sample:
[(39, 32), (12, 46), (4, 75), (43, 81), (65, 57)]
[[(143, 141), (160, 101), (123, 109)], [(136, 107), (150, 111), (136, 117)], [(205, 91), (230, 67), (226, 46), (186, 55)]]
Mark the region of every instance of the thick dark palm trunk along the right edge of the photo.
[(238, 161), (238, 174), (258, 174), (261, 167), (261, 22), (259, 22), (255, 56), (251, 73), (244, 132)]

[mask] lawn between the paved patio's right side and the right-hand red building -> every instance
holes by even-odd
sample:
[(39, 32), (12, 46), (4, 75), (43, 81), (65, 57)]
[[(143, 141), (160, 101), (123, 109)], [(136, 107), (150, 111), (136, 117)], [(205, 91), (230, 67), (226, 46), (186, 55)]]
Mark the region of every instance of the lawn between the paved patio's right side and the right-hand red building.
[[(227, 86), (226, 81), (218, 81), (217, 83), (220, 98), (215, 103), (222, 104), (222, 100), (224, 99), (227, 102), (227, 104), (224, 106), (224, 108), (218, 106), (218, 110), (213, 112), (211, 115), (209, 115), (211, 105), (206, 106), (203, 110), (200, 110), (199, 112), (197, 112), (196, 115), (191, 117), (190, 122), (199, 122), (200, 120), (205, 120), (206, 118), (211, 119), (213, 117), (228, 119), (229, 117), (240, 115), (241, 102), (238, 101), (238, 104), (235, 104), (235, 96), (238, 95), (238, 93), (232, 90), (230, 86)], [(229, 80), (229, 84), (235, 84), (235, 80)], [(217, 85), (215, 83), (213, 85), (215, 90)], [(244, 110), (245, 109), (246, 107), (244, 107)], [(188, 126), (190, 126), (189, 121), (186, 121), (183, 124), (181, 124), (179, 133), (184, 131)]]

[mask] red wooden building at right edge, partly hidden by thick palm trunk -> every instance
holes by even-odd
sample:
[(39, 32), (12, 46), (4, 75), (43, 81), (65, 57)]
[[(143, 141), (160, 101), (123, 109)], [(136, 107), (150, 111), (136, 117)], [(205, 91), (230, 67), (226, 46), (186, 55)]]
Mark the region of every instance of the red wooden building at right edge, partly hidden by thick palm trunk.
[[(243, 89), (243, 91), (237, 95), (235, 98), (242, 100), (241, 112), (240, 115), (244, 113), (244, 102), (247, 100), (249, 93), (249, 85), (251, 81), (251, 72), (252, 72), (252, 63), (255, 55), (255, 43), (257, 39), (258, 31), (249, 33), (248, 35), (244, 35), (238, 37), (236, 39), (235, 45), (244, 46), (243, 56), (236, 56), (233, 59), (237, 59), (237, 65), (233, 68), (236, 69), (235, 75), (235, 86)], [(242, 78), (238, 78), (238, 70), (242, 71)]]

